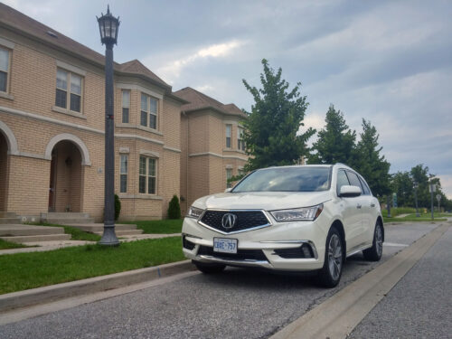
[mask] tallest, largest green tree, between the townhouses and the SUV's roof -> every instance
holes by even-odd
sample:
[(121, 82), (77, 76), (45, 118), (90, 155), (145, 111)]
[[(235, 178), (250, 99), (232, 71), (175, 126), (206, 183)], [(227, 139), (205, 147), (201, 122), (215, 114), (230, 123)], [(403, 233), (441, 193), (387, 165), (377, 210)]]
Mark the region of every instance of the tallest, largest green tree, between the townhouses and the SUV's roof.
[(271, 165), (296, 164), (308, 155), (306, 141), (315, 134), (313, 128), (299, 133), (308, 105), (306, 97), (300, 95), (301, 84), (288, 90), (289, 84), (281, 79), (281, 68), (275, 72), (265, 59), (262, 65), (261, 89), (243, 80), (254, 99), (251, 112), (245, 111), (248, 118), (242, 122), (246, 153), (250, 155), (246, 172)]

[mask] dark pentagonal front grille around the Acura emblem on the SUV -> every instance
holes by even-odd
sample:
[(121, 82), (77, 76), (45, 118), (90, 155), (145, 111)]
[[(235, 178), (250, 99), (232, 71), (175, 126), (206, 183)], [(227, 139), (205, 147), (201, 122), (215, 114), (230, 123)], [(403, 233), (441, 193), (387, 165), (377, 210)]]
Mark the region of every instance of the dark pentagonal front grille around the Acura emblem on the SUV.
[[(223, 217), (225, 214), (235, 215), (235, 222), (232, 227), (231, 224), (224, 227)], [(252, 229), (268, 226), (270, 222), (263, 211), (250, 210), (250, 211), (215, 211), (207, 210), (202, 214), (200, 223), (204, 226), (210, 227), (221, 233), (235, 233), (239, 231), (250, 231)]]

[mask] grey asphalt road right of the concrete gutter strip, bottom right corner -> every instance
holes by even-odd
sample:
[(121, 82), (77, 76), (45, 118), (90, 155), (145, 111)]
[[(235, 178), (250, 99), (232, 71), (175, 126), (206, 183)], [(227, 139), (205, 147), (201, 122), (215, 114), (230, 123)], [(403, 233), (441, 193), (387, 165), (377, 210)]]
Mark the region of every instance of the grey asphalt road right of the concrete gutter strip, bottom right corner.
[(449, 229), (350, 338), (452, 338), (451, 248)]

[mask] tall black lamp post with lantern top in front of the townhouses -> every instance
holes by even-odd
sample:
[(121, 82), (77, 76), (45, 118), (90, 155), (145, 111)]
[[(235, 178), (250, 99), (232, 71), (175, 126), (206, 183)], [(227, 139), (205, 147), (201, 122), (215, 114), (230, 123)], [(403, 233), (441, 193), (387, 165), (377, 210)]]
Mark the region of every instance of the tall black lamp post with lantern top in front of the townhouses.
[(115, 233), (115, 125), (113, 109), (113, 45), (118, 41), (119, 17), (107, 14), (99, 18), (100, 41), (105, 44), (105, 206), (104, 234), (99, 244), (118, 246)]

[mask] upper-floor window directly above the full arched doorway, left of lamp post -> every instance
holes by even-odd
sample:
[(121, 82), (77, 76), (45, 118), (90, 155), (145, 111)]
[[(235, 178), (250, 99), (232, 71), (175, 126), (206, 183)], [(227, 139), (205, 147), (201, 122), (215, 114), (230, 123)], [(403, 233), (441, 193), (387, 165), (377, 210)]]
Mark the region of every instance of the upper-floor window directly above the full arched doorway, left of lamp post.
[(71, 71), (57, 69), (55, 106), (81, 111), (81, 77)]

